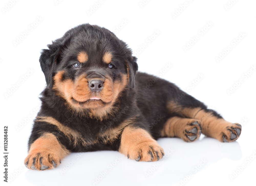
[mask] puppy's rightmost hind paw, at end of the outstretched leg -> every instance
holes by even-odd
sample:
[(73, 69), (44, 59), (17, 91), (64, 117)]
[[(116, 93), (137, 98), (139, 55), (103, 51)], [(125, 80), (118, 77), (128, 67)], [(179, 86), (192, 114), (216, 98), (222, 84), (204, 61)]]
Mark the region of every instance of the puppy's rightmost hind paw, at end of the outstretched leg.
[(222, 142), (231, 142), (237, 140), (240, 136), (242, 126), (238, 123), (233, 123), (230, 126), (226, 127), (224, 131), (221, 132)]

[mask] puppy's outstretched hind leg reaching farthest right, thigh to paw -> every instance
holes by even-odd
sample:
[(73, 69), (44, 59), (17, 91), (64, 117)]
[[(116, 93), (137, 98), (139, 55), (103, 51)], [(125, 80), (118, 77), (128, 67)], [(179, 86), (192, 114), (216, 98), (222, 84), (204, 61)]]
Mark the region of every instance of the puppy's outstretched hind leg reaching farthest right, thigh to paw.
[(202, 133), (221, 142), (235, 141), (240, 136), (241, 125), (238, 123), (225, 121), (217, 112), (207, 109), (203, 103), (192, 96), (186, 95), (183, 99), (186, 103), (169, 102), (167, 105), (169, 112), (199, 120)]

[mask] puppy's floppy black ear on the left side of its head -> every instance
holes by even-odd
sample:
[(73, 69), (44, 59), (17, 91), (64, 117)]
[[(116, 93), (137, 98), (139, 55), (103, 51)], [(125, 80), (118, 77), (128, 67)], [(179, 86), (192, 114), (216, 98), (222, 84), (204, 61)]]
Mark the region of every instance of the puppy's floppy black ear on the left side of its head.
[(53, 66), (53, 57), (50, 53), (50, 50), (43, 49), (41, 52), (41, 56), (39, 58), (40, 66), (42, 71), (45, 74), (45, 80), (47, 87), (52, 87), (52, 66)]

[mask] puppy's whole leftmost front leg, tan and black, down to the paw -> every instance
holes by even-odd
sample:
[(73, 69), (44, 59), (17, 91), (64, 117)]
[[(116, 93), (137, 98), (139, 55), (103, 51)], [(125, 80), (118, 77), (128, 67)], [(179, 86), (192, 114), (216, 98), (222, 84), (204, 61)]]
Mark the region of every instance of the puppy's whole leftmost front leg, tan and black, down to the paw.
[(28, 156), (24, 163), (28, 169), (45, 170), (58, 166), (79, 143), (79, 134), (48, 116), (38, 116), (29, 138)]

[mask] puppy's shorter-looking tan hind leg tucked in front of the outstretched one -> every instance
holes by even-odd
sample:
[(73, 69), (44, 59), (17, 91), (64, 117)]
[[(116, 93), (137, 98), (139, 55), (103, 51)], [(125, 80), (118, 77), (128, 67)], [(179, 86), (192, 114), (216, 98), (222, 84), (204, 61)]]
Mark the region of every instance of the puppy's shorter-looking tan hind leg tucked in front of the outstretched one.
[(169, 118), (161, 131), (161, 137), (178, 137), (187, 142), (197, 140), (200, 134), (200, 120), (177, 116)]

